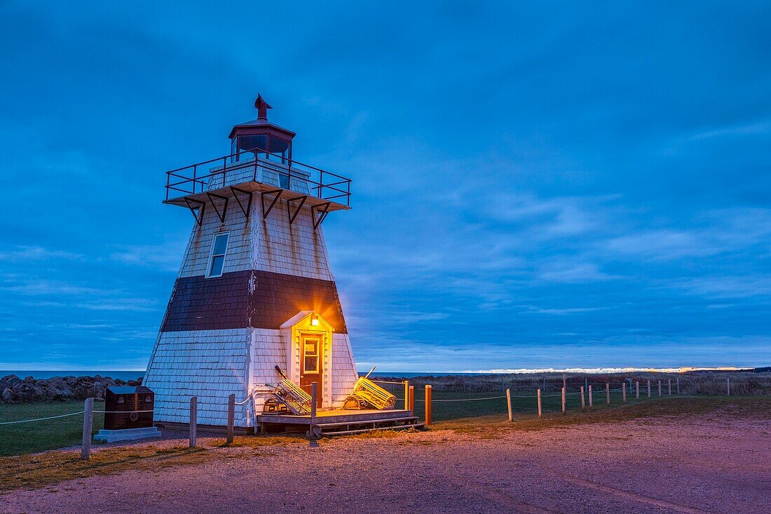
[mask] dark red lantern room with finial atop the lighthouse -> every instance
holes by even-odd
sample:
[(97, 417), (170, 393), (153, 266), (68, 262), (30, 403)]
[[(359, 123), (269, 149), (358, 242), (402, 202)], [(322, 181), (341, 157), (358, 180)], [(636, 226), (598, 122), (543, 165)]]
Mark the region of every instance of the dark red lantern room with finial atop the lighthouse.
[(255, 157), (291, 161), (291, 140), (295, 133), (268, 121), (272, 109), (261, 95), (254, 101), (257, 120), (240, 123), (231, 130), (231, 162), (254, 161)]

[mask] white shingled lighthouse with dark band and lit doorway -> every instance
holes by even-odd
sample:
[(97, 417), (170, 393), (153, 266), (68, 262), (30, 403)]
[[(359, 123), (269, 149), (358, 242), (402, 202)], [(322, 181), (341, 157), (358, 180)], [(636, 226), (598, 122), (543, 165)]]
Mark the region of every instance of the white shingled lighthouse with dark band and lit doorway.
[(295, 133), (262, 96), (254, 107), (227, 155), (167, 171), (163, 202), (194, 223), (144, 381), (161, 423), (187, 424), (197, 397), (197, 422), (223, 426), (235, 394), (235, 425), (254, 427), (276, 367), (318, 384), (319, 409), (341, 407), (358, 378), (322, 232), (350, 208), (351, 180), (295, 161)]

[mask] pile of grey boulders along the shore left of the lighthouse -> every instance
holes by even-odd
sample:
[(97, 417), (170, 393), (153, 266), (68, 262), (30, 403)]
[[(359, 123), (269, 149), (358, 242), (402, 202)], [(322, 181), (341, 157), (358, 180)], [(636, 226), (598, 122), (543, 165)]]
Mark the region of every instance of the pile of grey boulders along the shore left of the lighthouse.
[(0, 378), (0, 403), (22, 404), (33, 401), (84, 400), (88, 397), (104, 398), (104, 392), (110, 386), (142, 385), (142, 379), (113, 380), (110, 377), (52, 377), (35, 379), (16, 375)]

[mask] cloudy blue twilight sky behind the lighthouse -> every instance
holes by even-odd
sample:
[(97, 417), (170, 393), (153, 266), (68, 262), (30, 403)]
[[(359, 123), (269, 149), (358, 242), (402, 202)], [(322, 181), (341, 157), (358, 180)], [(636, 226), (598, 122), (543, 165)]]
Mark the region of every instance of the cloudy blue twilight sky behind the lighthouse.
[(769, 364), (771, 6), (365, 3), (0, 2), (0, 369), (145, 366), (258, 92), (360, 367)]

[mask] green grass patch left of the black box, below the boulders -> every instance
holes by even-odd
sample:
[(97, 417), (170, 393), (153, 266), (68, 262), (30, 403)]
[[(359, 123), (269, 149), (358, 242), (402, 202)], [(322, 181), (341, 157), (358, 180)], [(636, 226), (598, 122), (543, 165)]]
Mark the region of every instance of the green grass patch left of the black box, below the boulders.
[[(104, 410), (104, 402), (95, 402), (94, 409)], [(0, 404), (0, 422), (32, 418), (47, 418), (83, 410), (82, 401), (59, 403)], [(104, 414), (94, 413), (93, 433), (104, 426)], [(31, 423), (0, 424), (0, 456), (23, 455), (38, 451), (79, 445), (83, 434), (83, 416), (69, 416)]]

